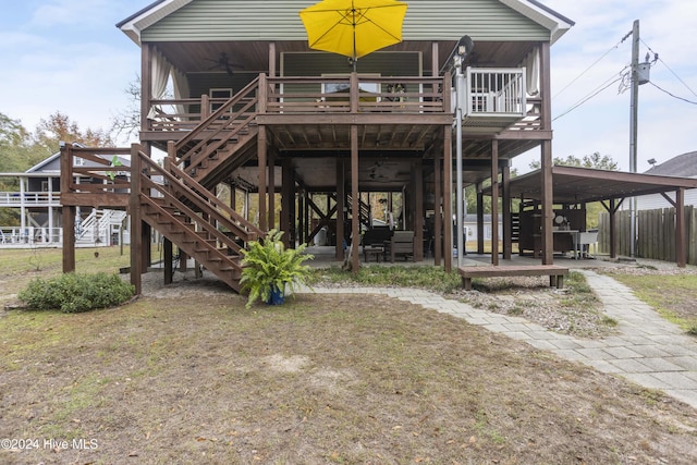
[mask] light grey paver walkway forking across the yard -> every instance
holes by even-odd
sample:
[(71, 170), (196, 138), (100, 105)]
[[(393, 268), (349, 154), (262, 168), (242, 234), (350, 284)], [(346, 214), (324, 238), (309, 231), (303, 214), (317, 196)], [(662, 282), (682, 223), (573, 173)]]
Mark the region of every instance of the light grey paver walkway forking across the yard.
[[(524, 341), (562, 358), (580, 362), (602, 372), (623, 376), (650, 389), (660, 389), (697, 408), (697, 339), (665, 321), (632, 291), (610, 277), (578, 270), (619, 321), (619, 334), (578, 339), (547, 330), (521, 317), (474, 308), (438, 294), (394, 287), (315, 287), (317, 293), (386, 294), (443, 314), (464, 318), (493, 332)], [(307, 292), (307, 291), (299, 291)]]

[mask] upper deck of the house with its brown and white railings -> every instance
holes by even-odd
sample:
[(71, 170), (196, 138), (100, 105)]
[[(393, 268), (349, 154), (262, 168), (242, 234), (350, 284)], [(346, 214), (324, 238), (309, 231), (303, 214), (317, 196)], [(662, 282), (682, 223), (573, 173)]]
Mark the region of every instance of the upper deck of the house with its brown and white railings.
[[(502, 157), (513, 157), (549, 137), (541, 101), (526, 96), (525, 69), (468, 68), (460, 102), (463, 150), (486, 158), (499, 138)], [(396, 82), (399, 81), (399, 82)], [(254, 101), (234, 108), (264, 125), (280, 152), (335, 152), (350, 149), (350, 129), (358, 126), (360, 150), (425, 152), (454, 121), (457, 96), (449, 74), (438, 77), (370, 76), (268, 77), (260, 74)], [(142, 140), (179, 140), (228, 98), (151, 100)], [(247, 108), (244, 108), (244, 107)], [(224, 118), (224, 117), (223, 117)]]

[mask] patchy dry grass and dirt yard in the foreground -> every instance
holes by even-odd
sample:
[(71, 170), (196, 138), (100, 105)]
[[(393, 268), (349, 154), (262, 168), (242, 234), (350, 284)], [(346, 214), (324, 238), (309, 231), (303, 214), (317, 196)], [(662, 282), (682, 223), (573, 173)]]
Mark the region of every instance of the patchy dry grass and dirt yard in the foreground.
[(146, 294), (0, 310), (0, 463), (697, 463), (694, 408), (419, 306)]

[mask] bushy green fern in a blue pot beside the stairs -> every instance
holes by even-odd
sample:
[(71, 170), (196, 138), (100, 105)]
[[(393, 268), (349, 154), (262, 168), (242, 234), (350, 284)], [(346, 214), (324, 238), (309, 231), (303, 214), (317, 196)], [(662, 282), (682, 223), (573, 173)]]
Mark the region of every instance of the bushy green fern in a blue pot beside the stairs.
[(264, 240), (253, 241), (243, 249), (242, 290), (249, 293), (247, 308), (258, 298), (269, 305), (284, 302), (286, 285), (306, 284), (311, 268), (303, 261), (314, 258), (303, 254), (305, 244), (297, 248), (285, 248), (281, 242), (282, 231), (271, 230)]

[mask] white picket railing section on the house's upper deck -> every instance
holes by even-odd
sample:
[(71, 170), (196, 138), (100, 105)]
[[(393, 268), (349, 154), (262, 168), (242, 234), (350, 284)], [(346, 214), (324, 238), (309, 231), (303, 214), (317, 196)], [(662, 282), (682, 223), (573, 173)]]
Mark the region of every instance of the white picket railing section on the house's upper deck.
[(467, 68), (465, 115), (515, 114), (525, 117), (525, 69)]

